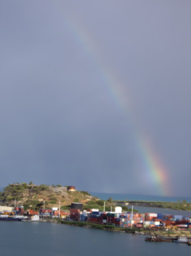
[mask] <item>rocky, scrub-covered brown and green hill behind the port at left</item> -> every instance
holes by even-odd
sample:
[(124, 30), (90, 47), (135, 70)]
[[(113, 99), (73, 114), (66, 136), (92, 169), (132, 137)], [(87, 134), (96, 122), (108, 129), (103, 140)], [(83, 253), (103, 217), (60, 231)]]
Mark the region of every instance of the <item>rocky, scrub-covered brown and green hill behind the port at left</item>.
[(86, 191), (68, 191), (68, 187), (61, 185), (34, 185), (32, 183), (9, 184), (0, 192), (0, 204), (13, 207), (23, 205), (25, 209), (39, 209), (45, 204), (45, 208), (58, 207), (68, 209), (74, 202), (87, 204), (88, 202), (100, 201)]

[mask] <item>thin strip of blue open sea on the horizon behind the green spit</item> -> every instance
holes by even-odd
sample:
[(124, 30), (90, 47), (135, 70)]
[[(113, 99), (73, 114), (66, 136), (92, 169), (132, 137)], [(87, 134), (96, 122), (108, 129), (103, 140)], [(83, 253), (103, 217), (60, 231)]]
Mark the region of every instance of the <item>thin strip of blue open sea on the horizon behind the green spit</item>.
[(131, 195), (131, 194), (116, 194), (116, 193), (100, 193), (90, 192), (92, 196), (97, 196), (101, 200), (108, 200), (111, 197), (113, 200), (122, 201), (160, 201), (160, 202), (177, 202), (177, 200), (186, 200), (191, 203), (191, 197), (188, 196), (148, 196), (148, 195)]

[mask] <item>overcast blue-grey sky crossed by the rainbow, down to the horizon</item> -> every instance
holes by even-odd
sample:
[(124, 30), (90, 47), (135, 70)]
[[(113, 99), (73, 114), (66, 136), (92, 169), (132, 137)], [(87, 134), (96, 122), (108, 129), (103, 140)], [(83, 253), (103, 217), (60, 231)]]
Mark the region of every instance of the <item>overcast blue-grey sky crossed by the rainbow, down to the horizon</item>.
[(0, 187), (190, 196), (190, 0), (1, 0)]

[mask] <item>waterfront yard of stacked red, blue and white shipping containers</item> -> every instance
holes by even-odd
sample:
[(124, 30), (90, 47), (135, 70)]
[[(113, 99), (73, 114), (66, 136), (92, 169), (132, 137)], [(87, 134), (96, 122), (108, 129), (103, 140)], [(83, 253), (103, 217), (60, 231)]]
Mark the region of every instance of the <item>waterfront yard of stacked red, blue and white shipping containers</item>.
[(80, 221), (99, 225), (111, 225), (118, 228), (150, 228), (190, 230), (191, 217), (169, 215), (162, 213), (137, 213), (122, 212), (121, 207), (116, 207), (114, 212), (101, 212), (99, 209), (83, 210), (83, 204), (72, 203), (69, 211), (64, 212), (56, 207), (52, 209), (24, 210), (22, 206), (0, 212), (0, 221), (41, 221), (51, 218), (62, 218), (68, 221)]

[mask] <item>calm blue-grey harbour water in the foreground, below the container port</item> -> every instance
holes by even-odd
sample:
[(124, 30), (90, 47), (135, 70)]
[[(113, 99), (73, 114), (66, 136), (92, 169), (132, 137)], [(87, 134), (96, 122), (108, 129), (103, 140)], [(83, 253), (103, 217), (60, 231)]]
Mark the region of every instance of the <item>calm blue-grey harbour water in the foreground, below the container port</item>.
[[(1, 256), (190, 255), (190, 246), (53, 223), (0, 222)], [(144, 252), (144, 253), (143, 253)]]

